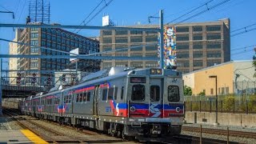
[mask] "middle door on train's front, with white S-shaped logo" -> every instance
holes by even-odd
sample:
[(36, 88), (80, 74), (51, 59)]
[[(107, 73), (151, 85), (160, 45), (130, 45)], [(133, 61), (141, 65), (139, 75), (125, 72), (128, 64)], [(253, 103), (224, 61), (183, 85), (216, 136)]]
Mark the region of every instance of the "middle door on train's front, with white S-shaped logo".
[(163, 78), (150, 78), (149, 115), (151, 118), (162, 117), (163, 108)]

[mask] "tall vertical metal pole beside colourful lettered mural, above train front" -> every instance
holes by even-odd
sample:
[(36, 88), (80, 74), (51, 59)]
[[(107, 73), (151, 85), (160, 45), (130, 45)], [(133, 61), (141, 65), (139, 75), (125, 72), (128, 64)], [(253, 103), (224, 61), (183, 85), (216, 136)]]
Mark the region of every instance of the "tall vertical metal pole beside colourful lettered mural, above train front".
[(159, 12), (160, 16), (160, 68), (164, 68), (164, 57), (163, 57), (163, 10)]

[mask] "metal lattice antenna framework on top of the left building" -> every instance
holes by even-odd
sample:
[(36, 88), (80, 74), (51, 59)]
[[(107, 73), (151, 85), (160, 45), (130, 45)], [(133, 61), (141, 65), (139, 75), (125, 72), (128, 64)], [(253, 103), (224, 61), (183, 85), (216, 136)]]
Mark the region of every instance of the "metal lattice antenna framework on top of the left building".
[(31, 22), (50, 23), (50, 2), (48, 1), (49, 0), (30, 1), (29, 16)]

